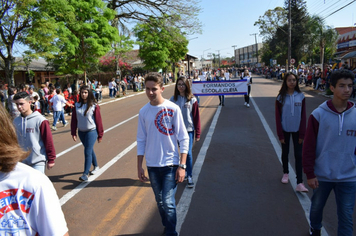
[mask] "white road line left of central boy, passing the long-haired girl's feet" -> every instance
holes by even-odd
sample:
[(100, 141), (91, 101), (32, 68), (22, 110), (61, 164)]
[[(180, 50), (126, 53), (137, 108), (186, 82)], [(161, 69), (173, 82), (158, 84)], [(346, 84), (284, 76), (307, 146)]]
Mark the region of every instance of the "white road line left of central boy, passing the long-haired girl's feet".
[(63, 206), (66, 202), (68, 202), (72, 197), (74, 197), (76, 194), (78, 194), (82, 189), (84, 189), (88, 184), (90, 184), (92, 181), (94, 181), (96, 178), (98, 178), (100, 175), (102, 175), (107, 169), (109, 169), (112, 165), (114, 165), (118, 160), (120, 160), (123, 156), (125, 156), (128, 152), (130, 152), (133, 148), (135, 148), (137, 145), (136, 141), (133, 142), (130, 146), (128, 146), (125, 150), (120, 152), (117, 156), (115, 156), (113, 159), (111, 159), (108, 163), (106, 163), (103, 167), (99, 169), (97, 174), (92, 175), (89, 177), (87, 182), (82, 182), (79, 184), (77, 187), (75, 187), (73, 190), (70, 192), (66, 193), (61, 199), (59, 200), (61, 206)]

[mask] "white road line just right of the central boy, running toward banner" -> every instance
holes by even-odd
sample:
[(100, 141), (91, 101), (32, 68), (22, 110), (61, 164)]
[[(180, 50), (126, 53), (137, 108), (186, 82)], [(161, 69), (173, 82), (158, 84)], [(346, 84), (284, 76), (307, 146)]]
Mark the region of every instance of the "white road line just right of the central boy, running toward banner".
[[(193, 177), (195, 179), (195, 183), (198, 182), (198, 178), (199, 178), (199, 174), (200, 174), (200, 171), (203, 167), (203, 163), (204, 163), (204, 160), (205, 160), (205, 157), (206, 157), (206, 153), (208, 151), (208, 148), (210, 146), (210, 142), (211, 142), (211, 139), (213, 137), (213, 134), (214, 134), (214, 130), (215, 130), (215, 127), (216, 127), (216, 123), (218, 122), (218, 119), (219, 119), (219, 115), (220, 115), (220, 111), (221, 111), (221, 106), (218, 107), (215, 115), (214, 115), (214, 119), (213, 121), (211, 122), (211, 125), (210, 125), (210, 128), (209, 128), (209, 131), (204, 139), (204, 143), (203, 143), (203, 146), (200, 148), (200, 151), (199, 151), (199, 154), (198, 154), (198, 157), (195, 161), (195, 164), (194, 164), (194, 167), (193, 167)], [(183, 191), (183, 194), (179, 200), (179, 203), (177, 205), (177, 226), (176, 226), (176, 231), (180, 232), (180, 229), (182, 228), (182, 224), (185, 220), (185, 217), (187, 216), (187, 213), (188, 213), (188, 210), (189, 210), (189, 206), (190, 206), (190, 203), (192, 201), (192, 197), (193, 197), (193, 194), (194, 194), (194, 191), (195, 191), (195, 186), (196, 184), (194, 185), (193, 188), (185, 188), (184, 191)]]

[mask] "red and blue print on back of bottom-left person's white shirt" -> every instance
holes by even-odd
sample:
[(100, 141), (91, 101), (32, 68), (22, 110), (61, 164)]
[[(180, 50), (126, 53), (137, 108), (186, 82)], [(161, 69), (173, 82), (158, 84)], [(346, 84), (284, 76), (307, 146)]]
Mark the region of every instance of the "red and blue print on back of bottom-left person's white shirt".
[(0, 192), (0, 230), (6, 235), (15, 235), (19, 231), (28, 230), (25, 219), (18, 214), (18, 211), (28, 214), (34, 197), (32, 193), (23, 189)]

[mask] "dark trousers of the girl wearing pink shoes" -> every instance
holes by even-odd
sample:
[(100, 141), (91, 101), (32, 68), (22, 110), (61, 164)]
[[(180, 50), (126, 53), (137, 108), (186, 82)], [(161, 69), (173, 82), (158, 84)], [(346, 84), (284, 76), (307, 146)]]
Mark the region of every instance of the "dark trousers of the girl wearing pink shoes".
[(294, 158), (295, 158), (295, 169), (297, 174), (297, 184), (303, 182), (303, 172), (302, 172), (302, 148), (303, 144), (299, 144), (299, 132), (285, 132), (284, 134), (284, 144), (282, 144), (282, 164), (283, 173), (288, 174), (288, 155), (289, 155), (289, 144), (290, 136), (292, 135), (293, 146), (294, 146)]

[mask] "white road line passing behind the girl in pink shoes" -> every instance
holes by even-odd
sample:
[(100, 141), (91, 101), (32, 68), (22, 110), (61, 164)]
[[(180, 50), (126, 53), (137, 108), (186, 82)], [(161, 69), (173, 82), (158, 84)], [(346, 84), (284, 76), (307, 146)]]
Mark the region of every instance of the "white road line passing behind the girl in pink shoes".
[[(263, 127), (265, 128), (266, 132), (267, 132), (267, 135), (272, 143), (272, 146), (274, 148), (274, 151), (276, 152), (276, 155), (277, 155), (277, 158), (279, 160), (280, 163), (282, 163), (282, 149), (281, 147), (279, 146), (279, 141), (277, 140), (277, 138), (274, 136), (271, 128), (269, 127), (265, 117), (263, 116), (262, 112), (260, 111), (260, 109), (258, 108), (255, 100), (252, 98), (252, 96), (250, 97), (252, 103), (253, 103), (253, 106), (255, 107), (255, 110), (262, 122), (262, 125)], [(291, 164), (289, 164), (289, 179), (290, 180), (293, 180), (293, 181), (289, 181), (290, 184), (292, 185), (293, 187), (293, 190), (295, 192), (295, 194), (297, 195), (297, 198), (299, 200), (299, 203), (300, 205), (302, 206), (303, 210), (304, 210), (304, 213), (305, 213), (305, 217), (307, 218), (307, 221), (308, 223), (310, 224), (310, 221), (309, 221), (309, 212), (310, 212), (310, 206), (311, 206), (311, 201), (308, 197), (308, 195), (306, 195), (305, 193), (299, 193), (299, 192), (296, 192), (295, 191), (295, 188), (297, 187), (297, 183), (294, 181), (296, 179), (296, 174), (294, 172), (294, 169), (293, 167), (291, 166)], [(323, 227), (321, 229), (321, 235), (325, 235), (325, 236), (328, 236), (329, 234), (327, 233), (325, 227)]]

